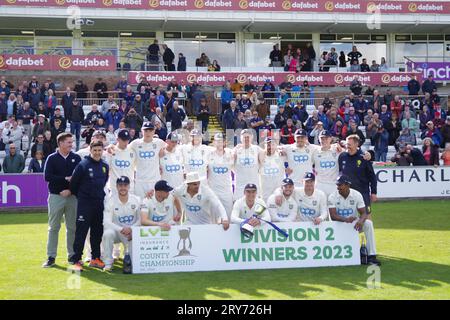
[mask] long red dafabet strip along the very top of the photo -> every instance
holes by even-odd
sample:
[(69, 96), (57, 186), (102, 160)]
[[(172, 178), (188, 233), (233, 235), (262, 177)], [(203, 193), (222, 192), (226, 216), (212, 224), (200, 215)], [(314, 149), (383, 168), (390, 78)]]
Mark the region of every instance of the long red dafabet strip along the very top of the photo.
[(277, 12), (343, 12), (385, 14), (449, 14), (449, 1), (367, 0), (0, 0), (0, 5), (116, 8), (147, 10), (231, 10)]

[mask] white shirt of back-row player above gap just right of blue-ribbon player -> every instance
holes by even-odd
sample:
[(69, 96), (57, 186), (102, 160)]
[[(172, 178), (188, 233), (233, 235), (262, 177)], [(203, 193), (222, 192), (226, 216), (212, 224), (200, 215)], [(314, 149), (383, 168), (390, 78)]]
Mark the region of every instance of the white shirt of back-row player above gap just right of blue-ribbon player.
[(285, 176), (284, 158), (278, 152), (271, 156), (266, 153), (259, 168), (262, 198), (267, 200), (275, 189), (281, 186)]

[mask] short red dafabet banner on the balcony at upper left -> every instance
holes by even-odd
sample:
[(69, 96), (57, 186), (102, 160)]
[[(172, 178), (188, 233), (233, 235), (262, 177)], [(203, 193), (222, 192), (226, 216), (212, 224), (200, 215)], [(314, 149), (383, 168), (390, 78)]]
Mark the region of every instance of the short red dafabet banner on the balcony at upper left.
[(114, 71), (116, 70), (116, 57), (1, 54), (0, 70)]

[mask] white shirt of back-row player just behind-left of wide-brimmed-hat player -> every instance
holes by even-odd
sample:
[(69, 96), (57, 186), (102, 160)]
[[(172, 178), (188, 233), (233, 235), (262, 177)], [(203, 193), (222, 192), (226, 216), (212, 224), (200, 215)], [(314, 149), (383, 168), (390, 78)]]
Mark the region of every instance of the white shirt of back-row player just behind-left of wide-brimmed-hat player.
[(169, 186), (175, 188), (184, 183), (183, 153), (176, 147), (172, 152), (165, 151), (164, 157), (159, 159), (162, 169), (161, 178), (166, 180)]

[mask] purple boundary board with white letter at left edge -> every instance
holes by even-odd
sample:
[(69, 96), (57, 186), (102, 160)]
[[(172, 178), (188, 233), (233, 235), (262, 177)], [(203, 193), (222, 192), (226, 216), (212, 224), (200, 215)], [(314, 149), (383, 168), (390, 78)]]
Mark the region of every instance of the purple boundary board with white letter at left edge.
[(0, 208), (46, 207), (47, 183), (42, 174), (1, 174)]

